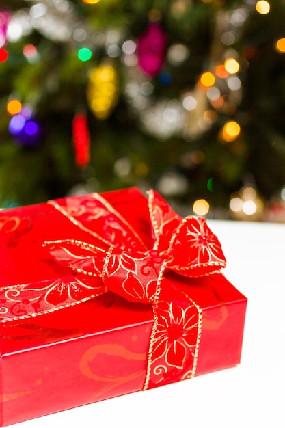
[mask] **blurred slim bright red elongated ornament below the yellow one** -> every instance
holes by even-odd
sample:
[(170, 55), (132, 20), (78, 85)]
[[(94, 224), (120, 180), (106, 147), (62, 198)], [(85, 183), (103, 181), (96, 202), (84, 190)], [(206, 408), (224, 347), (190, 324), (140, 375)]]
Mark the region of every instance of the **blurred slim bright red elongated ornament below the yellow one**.
[(80, 168), (90, 163), (90, 133), (85, 113), (77, 113), (72, 120), (75, 161)]

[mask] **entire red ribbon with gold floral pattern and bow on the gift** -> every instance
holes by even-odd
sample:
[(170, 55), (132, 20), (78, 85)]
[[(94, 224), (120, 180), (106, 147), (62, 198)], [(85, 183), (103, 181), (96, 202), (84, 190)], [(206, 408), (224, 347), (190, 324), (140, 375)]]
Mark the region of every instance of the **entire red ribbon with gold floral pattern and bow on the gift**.
[[(205, 276), (220, 271), (226, 260), (203, 217), (182, 218), (155, 191), (149, 191), (148, 197), (151, 248), (97, 193), (88, 202), (86, 198), (50, 201), (87, 232), (90, 241), (46, 241), (44, 245), (57, 263), (70, 267), (75, 275), (44, 281), (38, 286), (4, 288), (0, 294), (0, 298), (5, 296), (1, 299), (5, 300), (0, 308), (1, 321), (40, 315), (113, 291), (132, 302), (152, 304), (154, 323), (144, 389), (193, 377), (202, 310), (174, 285), (167, 272), (186, 277)], [(96, 230), (101, 231), (100, 235)], [(26, 300), (25, 312), (23, 300)]]

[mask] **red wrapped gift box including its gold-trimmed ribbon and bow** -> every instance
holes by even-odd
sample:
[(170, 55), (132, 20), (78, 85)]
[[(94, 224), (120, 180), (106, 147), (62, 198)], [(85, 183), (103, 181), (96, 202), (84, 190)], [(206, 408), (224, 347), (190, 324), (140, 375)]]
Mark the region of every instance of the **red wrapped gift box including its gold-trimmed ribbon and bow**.
[(240, 362), (217, 237), (154, 191), (1, 211), (0, 251), (1, 426)]

